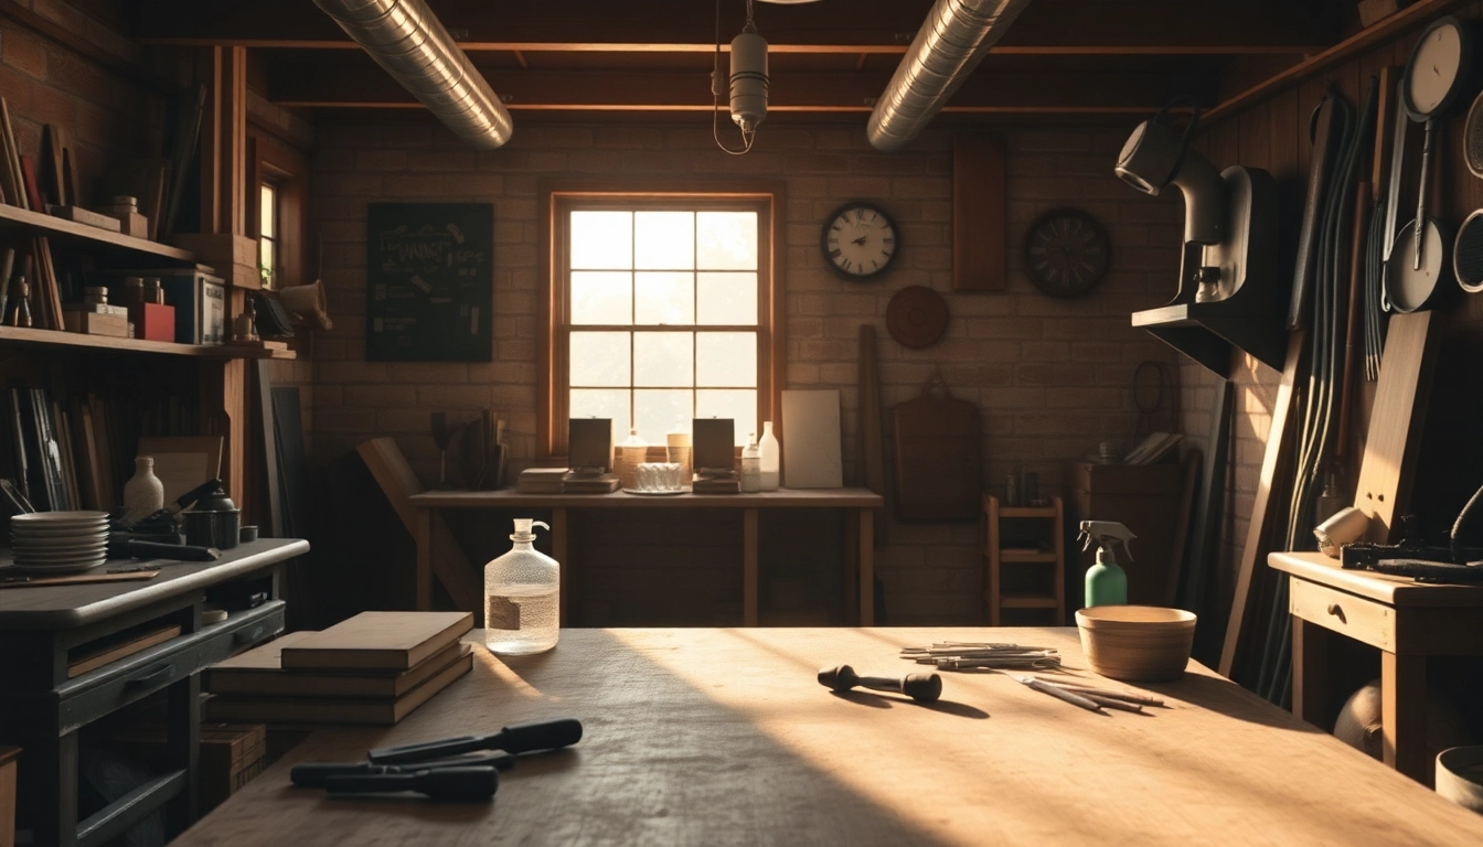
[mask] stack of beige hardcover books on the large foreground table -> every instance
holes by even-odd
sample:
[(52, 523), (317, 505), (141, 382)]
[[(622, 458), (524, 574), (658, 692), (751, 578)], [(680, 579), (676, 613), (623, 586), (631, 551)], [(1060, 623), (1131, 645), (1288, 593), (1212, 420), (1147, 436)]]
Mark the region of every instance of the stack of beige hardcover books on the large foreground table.
[(473, 616), (366, 611), (294, 632), (206, 670), (205, 718), (262, 724), (396, 724), (473, 668)]

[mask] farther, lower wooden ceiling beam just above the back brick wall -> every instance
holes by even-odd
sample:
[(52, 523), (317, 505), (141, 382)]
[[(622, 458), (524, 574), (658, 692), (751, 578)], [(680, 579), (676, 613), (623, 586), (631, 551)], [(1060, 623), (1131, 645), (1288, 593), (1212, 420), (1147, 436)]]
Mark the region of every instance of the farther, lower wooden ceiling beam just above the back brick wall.
[[(268, 98), (291, 108), (420, 108), (400, 86), (359, 65), (305, 62), (274, 68)], [(682, 71), (529, 71), (488, 79), (510, 110), (704, 111), (709, 74)], [(890, 71), (787, 73), (771, 82), (770, 111), (869, 111)], [(1014, 114), (1148, 114), (1176, 93), (1207, 99), (1215, 74), (992, 73), (970, 79), (943, 111)], [(725, 108), (725, 102), (722, 102)]]

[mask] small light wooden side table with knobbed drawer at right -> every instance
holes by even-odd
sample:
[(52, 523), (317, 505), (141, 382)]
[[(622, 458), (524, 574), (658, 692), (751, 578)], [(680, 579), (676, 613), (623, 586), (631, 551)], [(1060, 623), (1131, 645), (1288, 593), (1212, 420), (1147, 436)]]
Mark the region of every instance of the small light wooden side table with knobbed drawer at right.
[(1385, 764), (1427, 786), (1427, 659), (1483, 656), (1483, 586), (1422, 584), (1347, 571), (1323, 553), (1271, 553), (1292, 576), (1293, 715), (1330, 730), (1327, 645), (1335, 633), (1381, 651)]

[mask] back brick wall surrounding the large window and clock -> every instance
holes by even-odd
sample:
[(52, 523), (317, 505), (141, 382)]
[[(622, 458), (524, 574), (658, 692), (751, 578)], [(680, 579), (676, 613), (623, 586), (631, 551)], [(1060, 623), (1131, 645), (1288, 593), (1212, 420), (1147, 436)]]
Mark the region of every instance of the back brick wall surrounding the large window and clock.
[[(881, 154), (859, 128), (768, 125), (743, 157), (716, 150), (703, 119), (541, 125), (518, 116), (513, 139), (495, 151), (467, 150), (424, 116), (323, 120), (317, 131), (311, 214), (325, 239), (335, 317), (335, 329), (320, 334), (314, 350), (320, 463), (362, 439), (393, 435), (423, 479), (432, 481), (437, 454), (429, 412), (486, 405), (510, 420), (516, 457), (532, 454), (541, 177), (786, 179), (786, 387), (839, 389), (847, 479), (862, 323), (876, 326), (887, 408), (915, 396), (939, 365), (958, 396), (979, 403), (989, 491), (1001, 490), (1004, 476), (1017, 469), (1038, 472), (1043, 490), (1054, 491), (1065, 460), (1132, 432), (1134, 366), (1145, 359), (1173, 362), (1161, 344), (1129, 326), (1129, 313), (1173, 294), (1180, 211), (1178, 200), (1143, 197), (1112, 177), (1126, 129), (1005, 131), (1011, 276), (1001, 294), (951, 292), (952, 156), (945, 131), (924, 134), (906, 153)], [(842, 282), (819, 255), (819, 225), (848, 199), (881, 203), (903, 228), (905, 251), (882, 280)], [(377, 200), (494, 203), (494, 362), (363, 360), (365, 221), (366, 203)], [(1019, 252), (1031, 221), (1062, 205), (1100, 220), (1114, 248), (1103, 283), (1072, 301), (1034, 291)], [(948, 334), (925, 350), (903, 349), (885, 331), (885, 304), (906, 285), (927, 285), (948, 298)], [(890, 547), (876, 562), (891, 623), (964, 622), (977, 614), (977, 527), (893, 522)]]

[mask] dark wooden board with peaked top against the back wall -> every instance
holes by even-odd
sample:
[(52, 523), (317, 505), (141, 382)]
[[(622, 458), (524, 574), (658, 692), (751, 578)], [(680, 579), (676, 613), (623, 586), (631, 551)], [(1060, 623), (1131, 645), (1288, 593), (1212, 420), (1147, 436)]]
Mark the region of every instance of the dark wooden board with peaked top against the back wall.
[(942, 372), (921, 396), (896, 403), (896, 515), (902, 521), (977, 521), (983, 501), (979, 406), (952, 396)]

